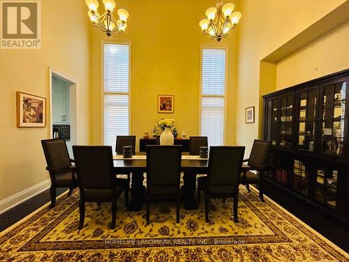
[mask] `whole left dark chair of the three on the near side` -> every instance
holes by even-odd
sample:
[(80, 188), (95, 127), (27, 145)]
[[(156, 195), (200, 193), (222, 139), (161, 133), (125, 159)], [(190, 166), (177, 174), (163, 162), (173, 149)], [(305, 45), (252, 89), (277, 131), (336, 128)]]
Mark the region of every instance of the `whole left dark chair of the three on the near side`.
[(117, 217), (117, 198), (125, 192), (127, 203), (128, 184), (126, 179), (117, 178), (113, 173), (112, 147), (74, 145), (73, 153), (80, 189), (80, 222), (84, 226), (86, 202), (112, 202), (112, 224)]

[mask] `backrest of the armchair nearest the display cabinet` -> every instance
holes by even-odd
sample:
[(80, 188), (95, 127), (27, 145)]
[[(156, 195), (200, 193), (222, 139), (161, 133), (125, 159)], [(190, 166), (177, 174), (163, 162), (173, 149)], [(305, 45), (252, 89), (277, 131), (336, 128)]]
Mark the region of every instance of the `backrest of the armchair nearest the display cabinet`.
[(248, 160), (248, 166), (258, 170), (267, 165), (270, 142), (265, 140), (253, 141), (253, 146)]

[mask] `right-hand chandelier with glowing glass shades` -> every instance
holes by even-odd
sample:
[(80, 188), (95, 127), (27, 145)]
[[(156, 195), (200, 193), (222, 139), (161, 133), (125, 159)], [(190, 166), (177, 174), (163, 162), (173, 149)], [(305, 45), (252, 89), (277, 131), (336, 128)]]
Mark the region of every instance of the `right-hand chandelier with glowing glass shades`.
[(221, 0), (218, 0), (216, 7), (206, 10), (207, 19), (200, 21), (202, 32), (218, 42), (227, 37), (230, 30), (235, 29), (242, 16), (239, 12), (232, 13), (232, 10), (234, 10), (234, 4), (223, 4)]

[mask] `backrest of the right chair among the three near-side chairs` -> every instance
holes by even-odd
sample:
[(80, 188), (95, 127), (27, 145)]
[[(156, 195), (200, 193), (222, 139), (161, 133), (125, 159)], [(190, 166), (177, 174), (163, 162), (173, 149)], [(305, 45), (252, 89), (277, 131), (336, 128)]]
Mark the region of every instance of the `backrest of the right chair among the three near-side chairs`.
[(209, 191), (219, 191), (220, 187), (239, 184), (245, 147), (210, 147), (207, 186)]

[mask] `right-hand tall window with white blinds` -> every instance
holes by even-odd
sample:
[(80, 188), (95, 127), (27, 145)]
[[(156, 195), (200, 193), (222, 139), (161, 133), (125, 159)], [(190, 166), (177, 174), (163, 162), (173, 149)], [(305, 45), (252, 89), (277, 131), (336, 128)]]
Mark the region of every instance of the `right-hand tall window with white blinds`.
[(223, 145), (225, 128), (225, 48), (202, 48), (201, 136)]

